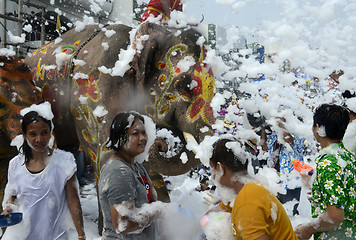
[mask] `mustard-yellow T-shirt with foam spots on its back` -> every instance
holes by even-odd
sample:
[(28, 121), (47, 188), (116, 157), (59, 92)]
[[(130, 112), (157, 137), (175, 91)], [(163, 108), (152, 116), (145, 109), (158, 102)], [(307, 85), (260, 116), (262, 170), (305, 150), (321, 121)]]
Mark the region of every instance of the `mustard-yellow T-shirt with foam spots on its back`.
[(278, 199), (259, 183), (249, 182), (237, 195), (231, 211), (236, 239), (298, 240), (289, 217)]

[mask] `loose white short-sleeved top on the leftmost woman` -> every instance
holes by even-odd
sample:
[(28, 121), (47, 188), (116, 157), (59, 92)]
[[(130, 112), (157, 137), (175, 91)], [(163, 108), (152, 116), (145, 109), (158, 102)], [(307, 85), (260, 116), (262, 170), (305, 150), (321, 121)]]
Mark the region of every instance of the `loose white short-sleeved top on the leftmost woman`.
[(3, 240), (67, 240), (67, 231), (73, 227), (68, 210), (66, 183), (77, 166), (73, 154), (54, 149), (47, 165), (40, 173), (31, 173), (22, 154), (9, 163), (8, 183), (4, 202), (16, 196), (23, 220), (8, 227)]

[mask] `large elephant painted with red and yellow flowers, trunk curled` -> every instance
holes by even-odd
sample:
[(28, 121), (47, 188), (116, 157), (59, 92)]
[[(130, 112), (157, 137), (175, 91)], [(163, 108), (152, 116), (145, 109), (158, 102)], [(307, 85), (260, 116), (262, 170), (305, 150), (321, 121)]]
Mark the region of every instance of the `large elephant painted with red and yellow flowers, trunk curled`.
[[(25, 62), (44, 100), (52, 104), (58, 147), (80, 145), (99, 178), (107, 158), (109, 124), (119, 112), (148, 115), (158, 128), (172, 130), (183, 142), (183, 132), (198, 142), (209, 133), (201, 129), (210, 129), (214, 122), (210, 102), (215, 80), (204, 63), (203, 42), (189, 26), (87, 25), (66, 32)], [(172, 157), (162, 153), (165, 148), (164, 141), (156, 139), (146, 167), (178, 175), (199, 164), (185, 144)]]

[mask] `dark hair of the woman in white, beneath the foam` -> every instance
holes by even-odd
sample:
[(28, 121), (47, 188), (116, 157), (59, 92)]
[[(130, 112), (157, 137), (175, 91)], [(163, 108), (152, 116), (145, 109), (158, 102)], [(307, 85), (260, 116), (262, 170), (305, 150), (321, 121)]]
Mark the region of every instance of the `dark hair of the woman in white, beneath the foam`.
[[(21, 123), (22, 133), (26, 134), (28, 125), (30, 125), (31, 123), (34, 123), (34, 122), (39, 122), (39, 121), (43, 121), (43, 122), (47, 123), (49, 131), (52, 130), (52, 122), (50, 120), (45, 119), (36, 111), (30, 111), (30, 112), (26, 113), (25, 116), (22, 117), (22, 123)], [(32, 158), (32, 149), (28, 145), (28, 143), (25, 139), (24, 139), (21, 149), (22, 149), (22, 153), (25, 155), (25, 164), (28, 164), (30, 159)]]

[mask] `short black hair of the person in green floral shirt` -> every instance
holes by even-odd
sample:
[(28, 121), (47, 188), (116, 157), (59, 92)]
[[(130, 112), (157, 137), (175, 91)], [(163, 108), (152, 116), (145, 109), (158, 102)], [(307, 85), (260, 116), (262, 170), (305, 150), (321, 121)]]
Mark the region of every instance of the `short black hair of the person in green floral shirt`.
[(335, 104), (322, 104), (315, 109), (313, 126), (325, 127), (326, 137), (341, 140), (349, 124), (349, 111)]

